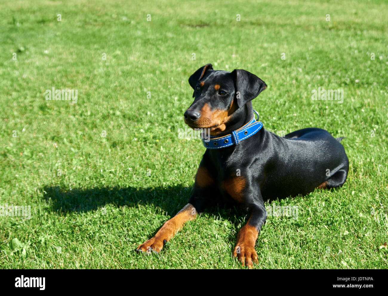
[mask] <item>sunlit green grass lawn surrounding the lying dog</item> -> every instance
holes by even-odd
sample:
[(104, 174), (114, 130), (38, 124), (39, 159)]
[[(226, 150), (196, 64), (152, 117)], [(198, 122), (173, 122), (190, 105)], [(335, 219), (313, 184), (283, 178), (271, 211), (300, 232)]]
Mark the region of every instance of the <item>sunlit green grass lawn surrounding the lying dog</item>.
[[(0, 268), (242, 268), (232, 250), (247, 217), (234, 210), (201, 214), (159, 255), (134, 252), (189, 200), (204, 147), (178, 128), (192, 102), (187, 79), (206, 63), (267, 83), (253, 101), (267, 130), (346, 137), (343, 188), (276, 201), (298, 206), (298, 220), (268, 217), (255, 268), (386, 268), (387, 9), (0, 1), (0, 205), (32, 211), (0, 217)], [(78, 103), (46, 101), (52, 87), (78, 90)], [(313, 101), (318, 87), (343, 89), (343, 103)]]

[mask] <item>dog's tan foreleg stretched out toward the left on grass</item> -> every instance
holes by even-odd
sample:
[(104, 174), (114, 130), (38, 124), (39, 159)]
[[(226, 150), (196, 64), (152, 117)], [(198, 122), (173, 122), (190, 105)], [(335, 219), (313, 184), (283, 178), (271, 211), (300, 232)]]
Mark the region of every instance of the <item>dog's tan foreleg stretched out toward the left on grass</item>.
[(166, 221), (153, 238), (147, 240), (137, 248), (137, 252), (159, 253), (166, 242), (171, 240), (187, 221), (194, 220), (197, 216), (194, 205), (187, 204), (174, 217)]

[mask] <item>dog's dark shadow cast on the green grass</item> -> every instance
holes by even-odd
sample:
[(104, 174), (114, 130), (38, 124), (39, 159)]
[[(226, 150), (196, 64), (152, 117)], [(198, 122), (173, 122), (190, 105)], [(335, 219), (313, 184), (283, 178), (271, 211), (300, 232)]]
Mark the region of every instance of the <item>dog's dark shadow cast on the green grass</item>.
[[(89, 212), (102, 209), (110, 204), (115, 207), (139, 207), (139, 205), (154, 205), (174, 216), (190, 199), (191, 187), (181, 185), (135, 188), (135, 187), (102, 187), (90, 189), (61, 189), (59, 186), (44, 186), (43, 198), (51, 206), (53, 212), (67, 214), (69, 212)], [(222, 219), (234, 222), (235, 218), (241, 219), (246, 215), (234, 207), (209, 207), (208, 212)]]

